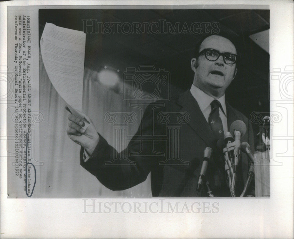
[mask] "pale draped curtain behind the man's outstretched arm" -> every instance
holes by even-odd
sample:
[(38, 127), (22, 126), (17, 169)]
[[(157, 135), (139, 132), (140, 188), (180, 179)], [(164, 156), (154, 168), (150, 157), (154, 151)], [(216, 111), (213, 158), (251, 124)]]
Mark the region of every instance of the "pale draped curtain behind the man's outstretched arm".
[[(151, 197), (150, 174), (147, 180), (133, 188), (123, 191), (111, 191), (104, 187), (95, 176), (80, 166), (80, 146), (71, 141), (67, 134), (68, 111), (65, 101), (52, 86), (44, 68), (41, 54), (39, 55), (39, 110), (44, 115), (40, 123), (40, 195), (43, 198), (81, 198), (81, 197)], [(99, 83), (97, 72), (85, 68), (83, 81), (83, 113), (88, 115), (97, 131), (113, 145), (113, 124), (104, 120), (108, 111), (135, 111), (123, 100), (122, 83), (119, 89), (113, 91), (108, 86)], [(147, 105), (143, 106), (145, 110)], [(134, 135), (141, 118), (133, 123), (128, 132)], [(118, 118), (118, 123), (123, 118)]]

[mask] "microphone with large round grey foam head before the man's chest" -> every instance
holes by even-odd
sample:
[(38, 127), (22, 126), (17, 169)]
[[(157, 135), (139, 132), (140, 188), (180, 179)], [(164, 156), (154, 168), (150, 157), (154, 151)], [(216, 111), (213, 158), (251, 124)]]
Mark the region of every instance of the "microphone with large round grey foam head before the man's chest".
[(241, 136), (246, 133), (246, 125), (241, 120), (234, 121), (230, 126), (230, 132), (235, 135), (235, 148), (234, 148), (234, 168), (233, 172), (236, 172), (239, 158), (240, 158), (240, 143), (241, 143)]

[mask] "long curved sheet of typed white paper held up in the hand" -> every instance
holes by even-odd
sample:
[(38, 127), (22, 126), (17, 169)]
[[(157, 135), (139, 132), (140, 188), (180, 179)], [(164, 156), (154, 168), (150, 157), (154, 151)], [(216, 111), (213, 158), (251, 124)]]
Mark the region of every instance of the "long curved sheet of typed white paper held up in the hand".
[(59, 95), (82, 110), (86, 34), (46, 23), (40, 40), (49, 79)]

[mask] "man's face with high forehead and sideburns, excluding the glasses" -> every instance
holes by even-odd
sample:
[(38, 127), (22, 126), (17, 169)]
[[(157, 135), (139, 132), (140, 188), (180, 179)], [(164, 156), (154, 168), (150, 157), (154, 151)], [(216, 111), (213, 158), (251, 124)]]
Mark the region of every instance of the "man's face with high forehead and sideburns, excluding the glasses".
[[(220, 53), (237, 54), (233, 43), (222, 36), (216, 35), (206, 38), (202, 42), (199, 52), (207, 48), (218, 50)], [(216, 61), (209, 61), (205, 55), (201, 55), (198, 59), (192, 59), (191, 66), (195, 72), (193, 84), (208, 95), (216, 97), (225, 93), (237, 73), (236, 64), (226, 64), (223, 56), (219, 56)]]

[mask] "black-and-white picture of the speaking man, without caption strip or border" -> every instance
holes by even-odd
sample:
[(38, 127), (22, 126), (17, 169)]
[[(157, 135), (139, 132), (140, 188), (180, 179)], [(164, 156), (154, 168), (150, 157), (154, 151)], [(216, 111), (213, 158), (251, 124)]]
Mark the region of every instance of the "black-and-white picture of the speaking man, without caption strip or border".
[[(269, 161), (269, 22), (254, 9), (39, 10), (40, 196), (270, 196), (269, 163), (254, 179)], [(80, 36), (84, 69), (69, 63)]]

